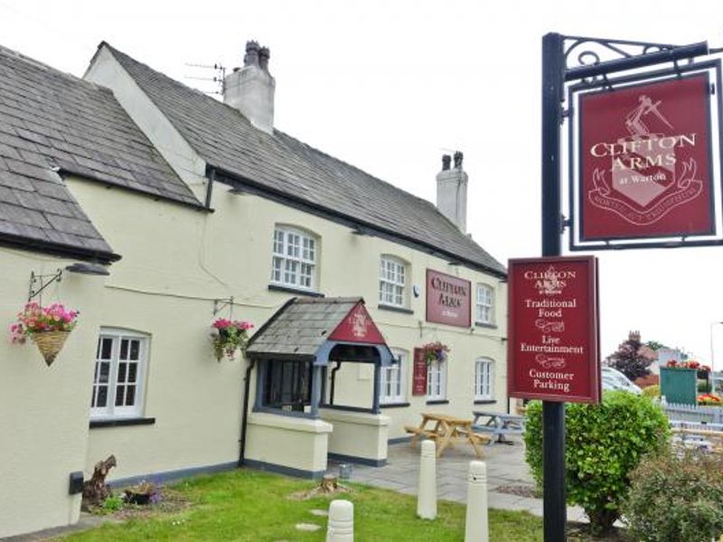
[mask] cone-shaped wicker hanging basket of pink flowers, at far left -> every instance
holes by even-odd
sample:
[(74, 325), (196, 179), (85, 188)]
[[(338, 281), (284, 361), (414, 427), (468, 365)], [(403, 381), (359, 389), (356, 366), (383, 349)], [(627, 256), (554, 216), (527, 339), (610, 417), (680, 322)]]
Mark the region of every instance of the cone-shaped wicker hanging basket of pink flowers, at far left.
[(61, 304), (42, 307), (28, 303), (18, 313), (17, 322), (10, 325), (10, 338), (14, 344), (32, 339), (50, 367), (77, 322), (78, 311), (68, 310)]

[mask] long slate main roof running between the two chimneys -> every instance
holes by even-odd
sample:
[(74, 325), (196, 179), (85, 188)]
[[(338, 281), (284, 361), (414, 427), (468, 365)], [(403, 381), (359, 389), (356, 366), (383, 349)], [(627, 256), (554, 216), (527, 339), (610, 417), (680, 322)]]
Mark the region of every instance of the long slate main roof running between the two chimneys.
[(429, 201), (274, 130), (268, 135), (239, 110), (152, 70), (108, 43), (136, 80), (207, 164), (290, 199), (320, 206), (355, 223), (433, 248), (495, 275), (504, 266), (462, 233)]

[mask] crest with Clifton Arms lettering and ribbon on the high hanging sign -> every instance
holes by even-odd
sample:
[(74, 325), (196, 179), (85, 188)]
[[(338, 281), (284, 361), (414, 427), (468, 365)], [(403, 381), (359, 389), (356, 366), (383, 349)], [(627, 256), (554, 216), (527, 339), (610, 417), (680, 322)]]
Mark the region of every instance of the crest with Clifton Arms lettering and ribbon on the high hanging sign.
[(662, 100), (642, 94), (637, 101), (621, 119), (630, 135), (590, 150), (594, 156), (609, 156), (610, 166), (594, 170), (587, 199), (644, 226), (699, 197), (703, 182), (696, 178), (695, 159), (684, 156), (686, 147), (696, 145), (696, 134), (675, 134), (662, 112)]

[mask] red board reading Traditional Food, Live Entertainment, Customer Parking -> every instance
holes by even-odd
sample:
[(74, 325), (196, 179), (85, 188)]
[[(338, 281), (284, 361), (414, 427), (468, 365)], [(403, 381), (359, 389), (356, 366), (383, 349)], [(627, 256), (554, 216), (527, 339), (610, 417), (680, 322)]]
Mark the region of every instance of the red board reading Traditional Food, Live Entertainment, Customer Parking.
[(598, 403), (596, 259), (513, 259), (508, 273), (509, 396)]

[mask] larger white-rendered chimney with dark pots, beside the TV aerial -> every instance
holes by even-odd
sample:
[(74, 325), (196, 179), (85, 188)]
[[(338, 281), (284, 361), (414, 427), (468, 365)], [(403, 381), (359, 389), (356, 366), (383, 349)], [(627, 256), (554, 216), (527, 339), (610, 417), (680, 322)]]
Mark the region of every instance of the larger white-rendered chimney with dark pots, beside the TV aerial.
[(236, 68), (223, 81), (223, 103), (236, 107), (251, 124), (267, 134), (274, 132), (276, 80), (268, 73), (268, 47), (246, 43), (243, 68)]

